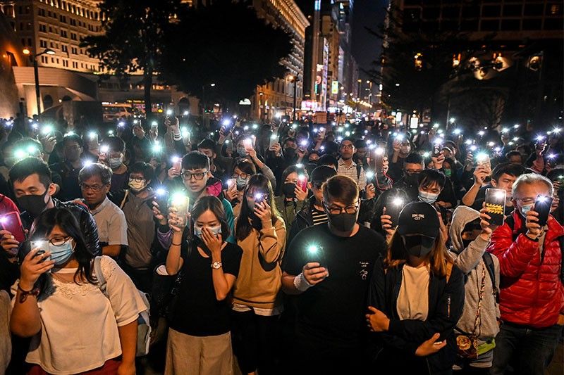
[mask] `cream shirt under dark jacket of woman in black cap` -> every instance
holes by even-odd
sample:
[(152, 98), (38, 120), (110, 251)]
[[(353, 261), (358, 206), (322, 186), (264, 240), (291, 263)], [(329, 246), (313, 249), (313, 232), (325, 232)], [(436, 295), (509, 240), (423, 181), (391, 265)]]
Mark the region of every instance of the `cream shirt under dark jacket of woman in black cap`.
[(400, 320), (426, 320), (429, 314), (429, 267), (403, 265), (396, 309)]

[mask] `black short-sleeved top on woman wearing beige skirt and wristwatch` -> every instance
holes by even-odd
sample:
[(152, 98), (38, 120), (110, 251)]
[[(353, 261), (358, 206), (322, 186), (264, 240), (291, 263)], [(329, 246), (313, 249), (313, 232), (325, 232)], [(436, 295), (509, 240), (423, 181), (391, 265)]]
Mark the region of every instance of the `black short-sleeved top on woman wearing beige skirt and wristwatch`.
[[(243, 250), (227, 243), (221, 250), (223, 272), (237, 277)], [(217, 300), (212, 279), (212, 258), (204, 258), (197, 248), (188, 253), (183, 242), (181, 256), (184, 260), (178, 302), (171, 328), (191, 336), (217, 336), (230, 330), (231, 305), (228, 299)]]

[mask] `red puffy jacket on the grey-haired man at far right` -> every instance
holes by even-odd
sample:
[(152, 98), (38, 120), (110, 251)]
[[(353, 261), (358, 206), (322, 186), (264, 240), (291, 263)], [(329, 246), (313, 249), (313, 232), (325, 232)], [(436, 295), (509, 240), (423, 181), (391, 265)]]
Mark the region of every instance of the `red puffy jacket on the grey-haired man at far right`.
[(560, 281), (562, 250), (558, 237), (562, 227), (553, 217), (548, 220), (548, 232), (541, 256), (539, 242), (514, 232), (522, 227), (522, 217), (513, 212), (513, 229), (507, 222), (491, 235), (488, 251), (499, 259), (501, 284), (501, 319), (506, 322), (545, 328), (558, 322), (564, 307), (564, 287)]

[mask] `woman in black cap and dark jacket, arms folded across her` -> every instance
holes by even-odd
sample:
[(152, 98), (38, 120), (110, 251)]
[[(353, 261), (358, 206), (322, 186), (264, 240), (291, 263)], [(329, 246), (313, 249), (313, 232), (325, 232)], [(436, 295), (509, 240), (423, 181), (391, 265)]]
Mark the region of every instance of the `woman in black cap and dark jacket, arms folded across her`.
[(436, 210), (409, 203), (372, 274), (367, 323), (383, 346), (379, 368), (386, 374), (450, 374), (453, 328), (463, 305), (464, 276), (448, 256)]

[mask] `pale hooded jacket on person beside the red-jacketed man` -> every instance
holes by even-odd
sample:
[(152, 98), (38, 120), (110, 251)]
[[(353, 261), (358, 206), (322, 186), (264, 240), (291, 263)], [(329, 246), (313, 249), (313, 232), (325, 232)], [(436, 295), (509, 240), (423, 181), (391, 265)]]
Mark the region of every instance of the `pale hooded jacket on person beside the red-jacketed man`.
[(474, 321), (478, 311), (479, 291), (482, 286), (482, 274), (485, 271), (485, 288), (482, 308), (480, 310), (479, 326), (476, 334), (481, 341), (496, 337), (499, 331), (498, 317), (499, 306), (496, 303), (496, 291), (499, 290), (499, 260), (491, 255), (494, 260), (495, 286), (491, 280), (490, 273), (482, 258), (489, 246), (489, 241), (484, 241), (478, 236), (465, 248), (462, 243), (462, 231), (464, 227), (479, 219), (480, 213), (465, 205), (460, 205), (453, 213), (453, 221), (450, 224), (450, 255), (455, 258), (455, 265), (466, 275), (465, 300), (462, 317), (456, 324), (455, 331), (469, 333), (474, 331)]

